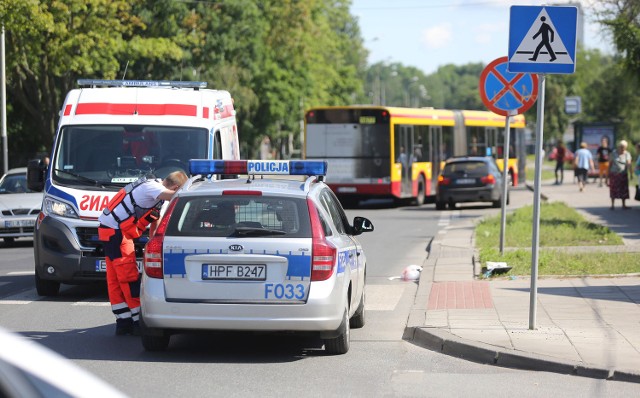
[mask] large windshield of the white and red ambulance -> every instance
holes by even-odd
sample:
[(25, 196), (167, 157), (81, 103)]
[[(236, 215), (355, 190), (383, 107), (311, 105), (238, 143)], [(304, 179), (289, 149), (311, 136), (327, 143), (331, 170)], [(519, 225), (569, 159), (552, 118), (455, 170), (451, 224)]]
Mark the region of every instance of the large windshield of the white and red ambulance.
[(73, 186), (122, 186), (141, 176), (164, 178), (188, 170), (189, 159), (207, 157), (203, 128), (142, 125), (65, 126), (52, 160), (55, 182)]

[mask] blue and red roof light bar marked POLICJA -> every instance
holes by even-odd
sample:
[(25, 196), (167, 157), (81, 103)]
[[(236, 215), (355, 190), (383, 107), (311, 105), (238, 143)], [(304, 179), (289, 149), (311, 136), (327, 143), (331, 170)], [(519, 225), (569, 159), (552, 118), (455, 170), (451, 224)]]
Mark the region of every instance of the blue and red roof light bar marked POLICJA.
[(191, 174), (327, 175), (325, 160), (189, 160)]

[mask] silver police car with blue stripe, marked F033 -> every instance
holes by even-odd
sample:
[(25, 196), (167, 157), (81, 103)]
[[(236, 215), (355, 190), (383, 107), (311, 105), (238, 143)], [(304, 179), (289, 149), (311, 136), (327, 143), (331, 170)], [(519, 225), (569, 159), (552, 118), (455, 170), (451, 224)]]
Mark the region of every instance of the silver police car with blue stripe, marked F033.
[(181, 331), (250, 330), (315, 332), (327, 353), (346, 353), (365, 321), (355, 236), (373, 225), (349, 223), (323, 182), (327, 163), (191, 160), (190, 170), (145, 248), (145, 349)]

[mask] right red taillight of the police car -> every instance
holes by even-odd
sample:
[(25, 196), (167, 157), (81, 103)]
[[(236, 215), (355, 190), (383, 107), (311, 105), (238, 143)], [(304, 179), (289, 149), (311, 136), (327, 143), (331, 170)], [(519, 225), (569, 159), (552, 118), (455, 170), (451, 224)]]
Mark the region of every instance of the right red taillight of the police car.
[(325, 281), (333, 275), (337, 250), (326, 240), (318, 210), (311, 199), (307, 199), (311, 219), (311, 281)]

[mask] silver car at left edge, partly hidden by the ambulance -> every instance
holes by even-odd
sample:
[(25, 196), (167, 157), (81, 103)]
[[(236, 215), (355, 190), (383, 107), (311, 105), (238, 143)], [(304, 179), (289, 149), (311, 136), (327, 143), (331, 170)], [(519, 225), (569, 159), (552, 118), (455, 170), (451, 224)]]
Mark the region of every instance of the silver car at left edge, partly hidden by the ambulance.
[(5, 243), (32, 238), (42, 193), (27, 188), (27, 168), (10, 169), (0, 179), (0, 237)]

